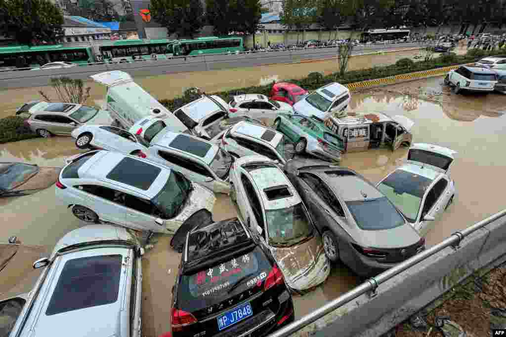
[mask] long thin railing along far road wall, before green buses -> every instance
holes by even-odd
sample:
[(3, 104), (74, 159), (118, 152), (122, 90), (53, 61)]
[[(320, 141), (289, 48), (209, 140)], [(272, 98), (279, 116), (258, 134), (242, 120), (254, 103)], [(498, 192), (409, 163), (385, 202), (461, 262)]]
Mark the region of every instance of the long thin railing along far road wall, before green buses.
[[(386, 44), (412, 44), (412, 43), (419, 43), (418, 41), (406, 41), (406, 42), (376, 42), (376, 43), (370, 43), (370, 44), (356, 44), (354, 45), (354, 48), (360, 47), (363, 50), (367, 49), (379, 49), (377, 46), (382, 46)], [(95, 65), (115, 65), (119, 63), (136, 63), (136, 62), (156, 62), (156, 61), (166, 61), (166, 60), (178, 60), (178, 59), (188, 59), (188, 58), (202, 58), (202, 60), (205, 62), (206, 56), (215, 56), (215, 55), (222, 55), (222, 56), (234, 56), (234, 55), (249, 55), (249, 54), (261, 54), (261, 53), (276, 53), (276, 52), (286, 52), (286, 51), (300, 51), (300, 50), (321, 50), (321, 49), (331, 49), (331, 48), (337, 48), (339, 45), (323, 45), (323, 46), (310, 46), (310, 47), (290, 47), (290, 48), (280, 48), (280, 49), (260, 49), (260, 50), (249, 50), (244, 52), (229, 52), (229, 53), (219, 53), (219, 54), (201, 54), (201, 55), (188, 55), (188, 56), (171, 56), (171, 57), (159, 57), (159, 58), (142, 58), (139, 57), (139, 59), (136, 60), (128, 60), (125, 61), (101, 61), (101, 62), (91, 62), (91, 63), (80, 63), (76, 64), (78, 67), (87, 67), (87, 66), (95, 66)], [(397, 47), (397, 46), (396, 46)], [(401, 46), (398, 46), (401, 47)], [(407, 46), (409, 47), (409, 46)], [(136, 56), (137, 57), (137, 56)], [(126, 58), (126, 57), (125, 57)], [(57, 62), (57, 61), (55, 61)], [(0, 69), (0, 73), (10, 72), (10, 71), (23, 71), (23, 70), (31, 70), (36, 69), (40, 67), (26, 67), (26, 68), (9, 68), (9, 69)], [(69, 67), (68, 69), (71, 69), (74, 67)], [(62, 68), (53, 68), (53, 69), (47, 69), (47, 70), (58, 70), (58, 69), (65, 69), (65, 67)], [(35, 71), (44, 71), (45, 69), (37, 69)]]

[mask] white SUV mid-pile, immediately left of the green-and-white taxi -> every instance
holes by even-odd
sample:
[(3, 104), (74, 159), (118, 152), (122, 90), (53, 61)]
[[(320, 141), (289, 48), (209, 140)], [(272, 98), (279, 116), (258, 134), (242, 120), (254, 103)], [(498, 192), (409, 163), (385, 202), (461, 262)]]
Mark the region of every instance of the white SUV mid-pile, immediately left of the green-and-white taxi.
[(284, 166), (293, 157), (293, 144), (286, 137), (258, 124), (239, 122), (228, 129), (222, 137), (221, 147), (232, 156), (262, 155)]

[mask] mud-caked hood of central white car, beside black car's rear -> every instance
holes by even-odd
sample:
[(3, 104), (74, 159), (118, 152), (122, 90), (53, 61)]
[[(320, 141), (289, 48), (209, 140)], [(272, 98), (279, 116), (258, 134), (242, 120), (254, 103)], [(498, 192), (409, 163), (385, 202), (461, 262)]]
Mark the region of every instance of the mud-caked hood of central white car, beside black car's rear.
[(283, 272), (286, 284), (296, 290), (305, 290), (323, 282), (330, 271), (319, 235), (314, 235), (302, 244), (291, 247), (271, 246), (270, 250)]

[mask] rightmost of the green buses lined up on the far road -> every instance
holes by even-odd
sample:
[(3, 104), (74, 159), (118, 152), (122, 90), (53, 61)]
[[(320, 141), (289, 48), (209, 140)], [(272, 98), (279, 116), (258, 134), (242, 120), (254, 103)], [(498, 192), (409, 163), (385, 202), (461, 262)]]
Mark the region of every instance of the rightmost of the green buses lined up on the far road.
[(193, 40), (177, 40), (172, 43), (174, 56), (224, 54), (244, 52), (242, 37), (199, 37)]

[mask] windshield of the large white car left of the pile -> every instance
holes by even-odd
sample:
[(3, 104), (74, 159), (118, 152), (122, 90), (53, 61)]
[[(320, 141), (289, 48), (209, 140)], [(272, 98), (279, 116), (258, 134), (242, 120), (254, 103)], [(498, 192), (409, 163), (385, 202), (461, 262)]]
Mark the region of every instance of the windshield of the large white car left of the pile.
[(151, 201), (167, 219), (172, 219), (179, 214), (192, 189), (190, 180), (181, 173), (172, 171), (165, 186)]

